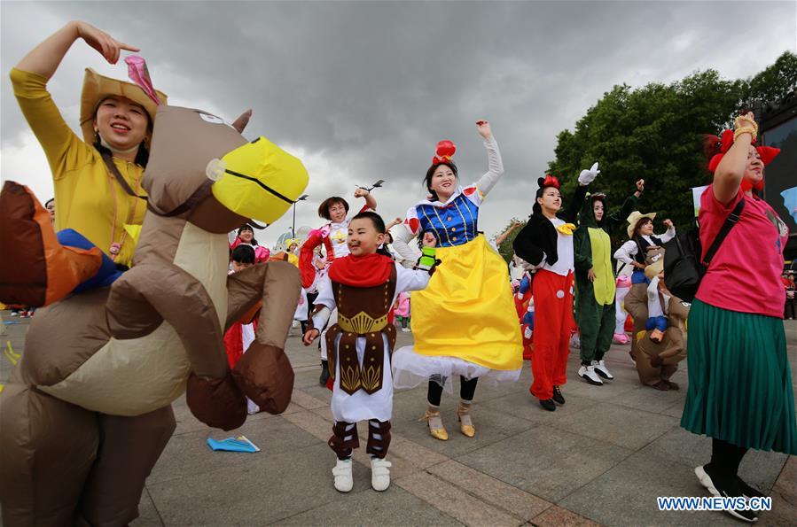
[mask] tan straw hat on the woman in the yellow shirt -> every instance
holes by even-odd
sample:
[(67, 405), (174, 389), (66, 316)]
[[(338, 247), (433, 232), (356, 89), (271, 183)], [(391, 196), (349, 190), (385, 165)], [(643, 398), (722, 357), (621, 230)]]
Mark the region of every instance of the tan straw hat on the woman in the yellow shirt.
[[(167, 102), (166, 94), (159, 90), (155, 91), (160, 98), (160, 104), (165, 105)], [(150, 122), (155, 122), (155, 113), (158, 112), (158, 105), (150, 97), (147, 97), (143, 89), (132, 82), (118, 81), (105, 77), (87, 67), (81, 92), (81, 130), (83, 132), (83, 140), (86, 143), (94, 143), (94, 114), (97, 112), (97, 106), (105, 97), (111, 96), (127, 97), (131, 101), (144, 106), (145, 111), (149, 113)]]

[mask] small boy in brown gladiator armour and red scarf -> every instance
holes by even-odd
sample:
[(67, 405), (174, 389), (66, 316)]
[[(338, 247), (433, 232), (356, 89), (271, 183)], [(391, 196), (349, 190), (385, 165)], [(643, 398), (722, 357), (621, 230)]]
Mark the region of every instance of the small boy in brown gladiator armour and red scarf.
[(385, 243), (385, 223), (379, 214), (357, 214), (348, 225), (349, 254), (332, 262), (318, 285), (316, 314), (303, 342), (310, 345), (338, 310), (337, 321), (326, 332), (332, 388), (332, 438), (329, 446), (338, 461), (332, 469), (335, 488), (349, 492), (354, 484), (351, 456), (359, 446), (356, 423), (368, 422), (371, 486), (384, 491), (390, 485), (390, 418), (393, 414), (393, 376), (390, 358), (395, 326), (387, 312), (399, 293), (426, 287), (436, 262), (434, 249), (411, 270), (377, 253)]

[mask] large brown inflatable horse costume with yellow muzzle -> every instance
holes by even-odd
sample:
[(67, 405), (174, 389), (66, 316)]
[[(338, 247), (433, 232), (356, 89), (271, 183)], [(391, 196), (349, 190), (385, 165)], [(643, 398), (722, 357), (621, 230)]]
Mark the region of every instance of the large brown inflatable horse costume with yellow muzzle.
[[(272, 262), (228, 276), (227, 232), (285, 213), (307, 173), (267, 139), (247, 143), (206, 112), (160, 106), (155, 122), (133, 267), (109, 288), (36, 312), (0, 394), (6, 525), (136, 518), (175, 430), (170, 403), (184, 391), (193, 415), (224, 430), (246, 420), (245, 394), (271, 413), (291, 398), (283, 348), (299, 272)], [(259, 300), (256, 339), (231, 371), (224, 329)]]

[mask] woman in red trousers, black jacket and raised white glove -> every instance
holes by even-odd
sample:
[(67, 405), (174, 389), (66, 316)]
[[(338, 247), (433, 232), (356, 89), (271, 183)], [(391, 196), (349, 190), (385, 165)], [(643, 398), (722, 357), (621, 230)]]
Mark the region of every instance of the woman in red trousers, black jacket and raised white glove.
[[(561, 386), (567, 382), (566, 366), (573, 319), (574, 245), (572, 223), (587, 194), (587, 185), (600, 171), (598, 163), (578, 176), (578, 187), (564, 211), (559, 180), (539, 178), (532, 214), (515, 238), (515, 253), (537, 268), (533, 281), (535, 331), (529, 391), (549, 412), (565, 404)], [(561, 212), (560, 212), (561, 211)]]

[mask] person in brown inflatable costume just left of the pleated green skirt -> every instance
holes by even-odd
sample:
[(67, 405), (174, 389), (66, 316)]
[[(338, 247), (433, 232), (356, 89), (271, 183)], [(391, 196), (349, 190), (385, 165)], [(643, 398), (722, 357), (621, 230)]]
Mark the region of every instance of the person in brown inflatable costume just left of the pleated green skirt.
[[(631, 339), (631, 358), (637, 367), (639, 381), (660, 391), (678, 390), (678, 384), (670, 378), (678, 370), (678, 363), (686, 358), (686, 320), (689, 316), (689, 304), (674, 297), (663, 282), (660, 281), (662, 262), (645, 267), (645, 274), (651, 279), (653, 290), (637, 286), (631, 288), (625, 297), (625, 306), (634, 320)], [(654, 285), (655, 282), (655, 285)], [(666, 317), (667, 328), (660, 340), (650, 337), (647, 328), (651, 313), (651, 298), (648, 292), (655, 292), (654, 312)]]

